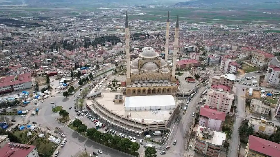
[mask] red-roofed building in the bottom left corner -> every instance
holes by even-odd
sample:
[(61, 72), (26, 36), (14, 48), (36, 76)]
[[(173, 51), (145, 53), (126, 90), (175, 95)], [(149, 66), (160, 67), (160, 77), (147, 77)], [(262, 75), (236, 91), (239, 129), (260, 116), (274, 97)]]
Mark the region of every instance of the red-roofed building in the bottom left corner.
[(6, 143), (0, 149), (1, 157), (39, 157), (36, 146), (21, 143)]

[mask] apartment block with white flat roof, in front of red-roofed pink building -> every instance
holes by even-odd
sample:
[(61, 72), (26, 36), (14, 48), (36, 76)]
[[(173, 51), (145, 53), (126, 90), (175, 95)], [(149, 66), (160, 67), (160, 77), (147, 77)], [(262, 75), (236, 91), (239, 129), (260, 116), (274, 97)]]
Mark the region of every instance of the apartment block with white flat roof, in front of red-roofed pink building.
[(195, 136), (195, 148), (200, 154), (210, 157), (218, 157), (225, 143), (227, 134), (221, 131), (214, 131), (199, 125)]

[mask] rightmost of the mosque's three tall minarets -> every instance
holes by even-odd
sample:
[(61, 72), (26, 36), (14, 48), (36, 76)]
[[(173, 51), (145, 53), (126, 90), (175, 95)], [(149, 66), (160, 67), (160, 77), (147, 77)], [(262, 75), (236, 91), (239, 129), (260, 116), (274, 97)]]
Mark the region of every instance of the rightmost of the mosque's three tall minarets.
[(177, 52), (178, 52), (178, 36), (179, 36), (179, 15), (177, 15), (177, 21), (175, 26), (172, 75), (170, 79), (172, 83), (176, 83), (175, 71), (176, 71), (176, 62), (177, 62), (176, 59), (177, 59)]

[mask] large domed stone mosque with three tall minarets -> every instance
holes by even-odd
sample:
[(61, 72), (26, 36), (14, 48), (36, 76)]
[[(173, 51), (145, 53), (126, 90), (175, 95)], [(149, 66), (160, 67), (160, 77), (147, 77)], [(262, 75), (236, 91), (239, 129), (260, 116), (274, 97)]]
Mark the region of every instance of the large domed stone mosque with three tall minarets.
[[(125, 18), (125, 50), (126, 62), (126, 88), (127, 96), (147, 96), (147, 95), (175, 95), (178, 90), (175, 78), (176, 66), (167, 64), (168, 42), (169, 42), (169, 12), (167, 16), (166, 40), (165, 40), (165, 60), (159, 57), (158, 53), (151, 47), (144, 47), (138, 58), (130, 61), (129, 53), (129, 25), (128, 16)], [(177, 17), (175, 28), (173, 64), (176, 65), (178, 52), (178, 32), (179, 21)]]

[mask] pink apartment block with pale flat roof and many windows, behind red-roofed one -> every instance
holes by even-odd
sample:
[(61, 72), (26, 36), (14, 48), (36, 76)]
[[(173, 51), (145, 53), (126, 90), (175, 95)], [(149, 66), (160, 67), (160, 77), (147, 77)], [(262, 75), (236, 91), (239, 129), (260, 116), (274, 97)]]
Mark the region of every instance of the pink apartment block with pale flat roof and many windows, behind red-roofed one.
[(222, 90), (208, 90), (206, 105), (217, 108), (217, 111), (229, 113), (234, 94)]

